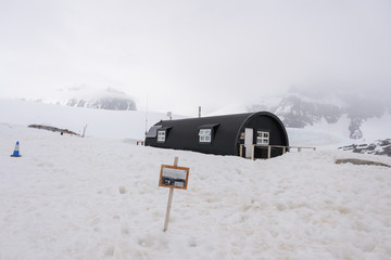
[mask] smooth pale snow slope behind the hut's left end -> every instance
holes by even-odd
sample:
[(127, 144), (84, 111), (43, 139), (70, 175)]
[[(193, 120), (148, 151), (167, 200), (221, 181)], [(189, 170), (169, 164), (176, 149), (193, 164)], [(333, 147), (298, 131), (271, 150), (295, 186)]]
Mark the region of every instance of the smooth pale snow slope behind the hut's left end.
[[(174, 118), (178, 116), (174, 115)], [(48, 125), (86, 134), (112, 139), (143, 140), (146, 132), (160, 120), (167, 120), (162, 113), (137, 110), (104, 110), (26, 101), (0, 100), (0, 123), (28, 126)]]

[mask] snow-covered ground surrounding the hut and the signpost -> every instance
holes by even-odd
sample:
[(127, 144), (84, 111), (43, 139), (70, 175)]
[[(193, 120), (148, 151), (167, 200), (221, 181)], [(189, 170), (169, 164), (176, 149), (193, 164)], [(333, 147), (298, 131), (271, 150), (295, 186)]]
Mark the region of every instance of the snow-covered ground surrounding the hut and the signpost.
[[(253, 161), (160, 150), (131, 140), (144, 127), (135, 112), (24, 105), (0, 114), (0, 259), (391, 259), (391, 168), (335, 164), (389, 157), (324, 146)], [(26, 127), (81, 128), (88, 116), (131, 127), (91, 123), (84, 139)], [(291, 142), (325, 136), (305, 131)], [(16, 141), (20, 158), (10, 157)], [(175, 190), (163, 232), (160, 169), (175, 156), (189, 183)]]

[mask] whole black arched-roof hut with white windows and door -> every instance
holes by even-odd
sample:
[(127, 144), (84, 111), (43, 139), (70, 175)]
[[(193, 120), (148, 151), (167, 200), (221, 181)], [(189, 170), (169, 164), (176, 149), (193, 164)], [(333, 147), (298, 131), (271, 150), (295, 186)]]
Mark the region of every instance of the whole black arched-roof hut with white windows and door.
[(146, 145), (187, 150), (215, 155), (267, 158), (281, 155), (288, 146), (282, 122), (272, 113), (257, 112), (227, 116), (165, 120), (155, 123)]

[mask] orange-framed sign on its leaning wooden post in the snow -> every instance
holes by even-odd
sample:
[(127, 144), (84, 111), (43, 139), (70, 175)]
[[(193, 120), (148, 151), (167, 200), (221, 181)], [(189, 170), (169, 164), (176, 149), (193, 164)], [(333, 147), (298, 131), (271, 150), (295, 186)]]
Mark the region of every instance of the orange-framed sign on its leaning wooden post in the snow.
[(169, 187), (166, 217), (164, 221), (165, 232), (168, 229), (169, 212), (173, 204), (174, 188), (187, 190), (189, 168), (178, 167), (178, 157), (175, 157), (174, 166), (162, 165), (159, 186)]

